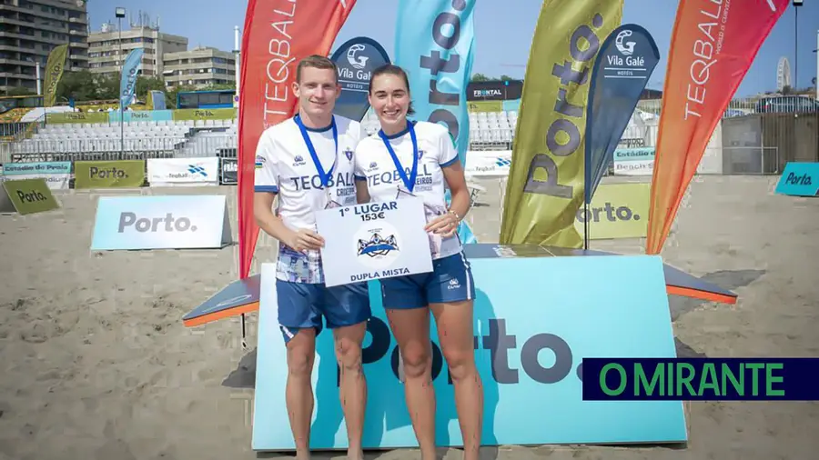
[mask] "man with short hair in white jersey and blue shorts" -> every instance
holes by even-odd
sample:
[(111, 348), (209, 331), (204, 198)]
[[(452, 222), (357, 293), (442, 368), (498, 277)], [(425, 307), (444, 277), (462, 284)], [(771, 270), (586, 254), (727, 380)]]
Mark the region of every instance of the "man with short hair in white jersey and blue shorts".
[[(361, 343), (371, 313), (364, 283), (327, 287), (315, 213), (356, 204), (353, 167), (365, 136), (358, 122), (333, 116), (340, 95), (336, 65), (311, 55), (298, 63), (293, 93), (298, 115), (270, 126), (258, 141), (253, 213), (259, 227), (278, 239), (278, 323), (288, 348), (286, 398), (296, 456), (309, 458), (313, 415), (310, 375), (322, 317), (333, 331), (341, 368), (339, 396), (350, 460), (363, 459), (361, 435), (367, 383)], [(278, 195), (278, 215), (273, 200)]]

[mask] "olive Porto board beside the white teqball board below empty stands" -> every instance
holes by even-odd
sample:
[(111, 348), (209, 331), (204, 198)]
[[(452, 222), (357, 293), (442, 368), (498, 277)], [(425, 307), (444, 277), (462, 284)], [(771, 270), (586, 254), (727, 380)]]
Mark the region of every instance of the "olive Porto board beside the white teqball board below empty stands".
[(74, 162), (74, 188), (136, 188), (145, 185), (145, 160)]

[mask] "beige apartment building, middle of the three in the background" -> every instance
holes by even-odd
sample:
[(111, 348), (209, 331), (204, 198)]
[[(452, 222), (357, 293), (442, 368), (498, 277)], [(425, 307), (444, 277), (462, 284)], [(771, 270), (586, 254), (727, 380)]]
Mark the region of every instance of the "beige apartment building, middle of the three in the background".
[[(112, 29), (112, 26), (104, 25), (102, 31), (88, 35), (88, 63), (94, 74), (119, 75), (120, 32)], [(163, 55), (187, 50), (187, 37), (165, 34), (155, 27), (131, 27), (123, 30), (121, 36), (121, 60), (125, 60), (133, 49), (144, 49), (142, 75), (147, 77), (163, 75)]]

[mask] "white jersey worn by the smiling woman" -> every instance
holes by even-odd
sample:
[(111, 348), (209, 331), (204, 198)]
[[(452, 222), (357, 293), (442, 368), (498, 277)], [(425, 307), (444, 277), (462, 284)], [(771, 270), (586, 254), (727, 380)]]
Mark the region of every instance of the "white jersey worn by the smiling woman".
[[(399, 175), (395, 161), (379, 133), (362, 139), (356, 148), (356, 180), (366, 180), (370, 199), (374, 202), (391, 201), (410, 195), (424, 202), (427, 222), (447, 213), (446, 179), (442, 167), (458, 161), (458, 152), (452, 144), (450, 132), (443, 125), (430, 122), (414, 123), (418, 142), (418, 170), (415, 185), (408, 190)], [(410, 128), (396, 135), (387, 136), (389, 145), (402, 166), (406, 177), (410, 178), (414, 149)], [(440, 235), (430, 233), (432, 258), (440, 259), (459, 254), (462, 247), (458, 235), (441, 240)]]

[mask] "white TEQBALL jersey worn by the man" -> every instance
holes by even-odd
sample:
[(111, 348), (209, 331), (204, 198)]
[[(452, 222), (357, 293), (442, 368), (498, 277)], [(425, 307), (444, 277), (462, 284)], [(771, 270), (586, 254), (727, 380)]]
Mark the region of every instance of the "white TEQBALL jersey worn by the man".
[[(336, 157), (331, 126), (306, 128), (323, 173), (328, 177), (326, 188), (294, 118), (270, 126), (258, 139), (255, 190), (278, 194), (277, 214), (284, 225), (294, 231), (301, 228), (316, 231), (316, 211), (356, 204), (354, 155), (356, 145), (365, 134), (356, 121), (343, 116), (333, 119), (339, 142)], [(276, 272), (283, 281), (324, 283), (319, 251), (308, 251), (304, 255), (279, 243)]]

